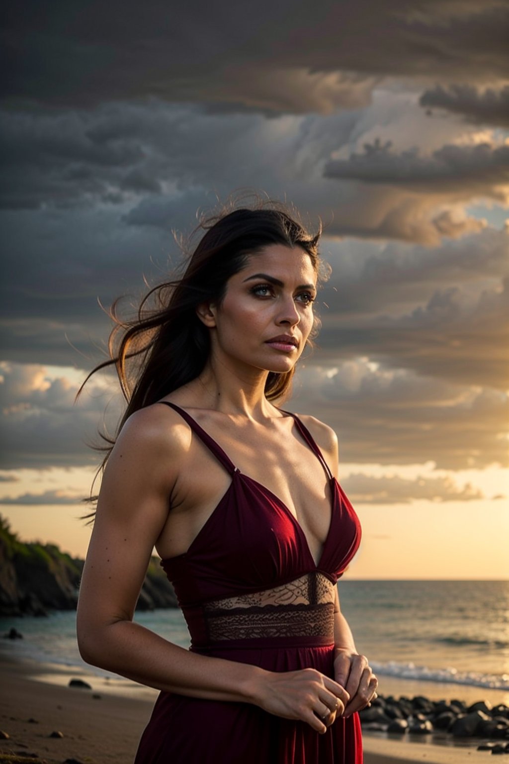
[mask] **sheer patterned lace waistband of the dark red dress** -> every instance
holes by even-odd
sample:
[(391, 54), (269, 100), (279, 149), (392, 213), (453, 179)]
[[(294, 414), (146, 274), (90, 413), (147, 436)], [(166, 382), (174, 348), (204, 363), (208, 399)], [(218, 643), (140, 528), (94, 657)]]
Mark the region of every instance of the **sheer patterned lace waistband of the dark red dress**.
[(266, 591), (209, 601), (201, 617), (184, 609), (192, 649), (332, 644), (334, 595), (334, 584), (314, 571)]

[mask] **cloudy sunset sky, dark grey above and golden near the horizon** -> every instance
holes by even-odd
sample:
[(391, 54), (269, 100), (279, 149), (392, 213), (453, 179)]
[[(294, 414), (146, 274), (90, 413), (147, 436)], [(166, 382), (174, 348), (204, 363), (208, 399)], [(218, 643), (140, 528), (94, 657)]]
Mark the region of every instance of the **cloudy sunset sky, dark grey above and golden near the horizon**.
[[(292, 406), (338, 433), (359, 578), (506, 578), (505, 0), (10, 2), (0, 512), (85, 552), (108, 306), (236, 189), (324, 222)], [(106, 13), (105, 13), (106, 11)], [(505, 536), (504, 536), (505, 534)]]

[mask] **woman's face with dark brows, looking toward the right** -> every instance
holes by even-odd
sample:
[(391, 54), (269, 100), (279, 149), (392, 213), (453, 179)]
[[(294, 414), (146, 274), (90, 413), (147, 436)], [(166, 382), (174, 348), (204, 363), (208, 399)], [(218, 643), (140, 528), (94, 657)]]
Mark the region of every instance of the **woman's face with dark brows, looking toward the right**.
[(260, 370), (290, 371), (313, 327), (316, 282), (311, 257), (300, 247), (270, 244), (251, 255), (227, 281), (221, 304), (208, 308), (212, 353)]

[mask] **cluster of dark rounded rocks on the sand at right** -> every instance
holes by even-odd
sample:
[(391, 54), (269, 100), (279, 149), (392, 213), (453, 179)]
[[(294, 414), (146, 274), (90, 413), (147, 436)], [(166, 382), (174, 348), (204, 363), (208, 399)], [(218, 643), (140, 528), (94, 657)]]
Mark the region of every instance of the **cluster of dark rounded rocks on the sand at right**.
[(488, 701), (478, 701), (467, 706), (463, 701), (430, 701), (421, 695), (398, 700), (392, 695), (379, 695), (359, 716), (363, 730), (483, 738), (492, 742), (478, 746), (479, 750), (509, 753), (509, 707), (504, 704), (492, 707)]

